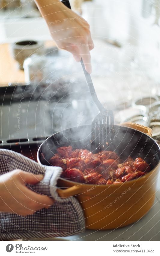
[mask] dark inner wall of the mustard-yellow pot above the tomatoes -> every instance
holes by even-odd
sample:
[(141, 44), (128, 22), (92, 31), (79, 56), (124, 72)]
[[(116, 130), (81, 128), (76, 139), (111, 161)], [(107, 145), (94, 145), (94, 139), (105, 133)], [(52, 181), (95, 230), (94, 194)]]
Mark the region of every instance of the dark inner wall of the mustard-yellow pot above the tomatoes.
[[(112, 143), (104, 150), (115, 151), (122, 159), (128, 156), (141, 157), (150, 164), (153, 169), (160, 160), (160, 148), (158, 144), (148, 135), (123, 126), (115, 125), (115, 137)], [(50, 166), (48, 162), (56, 153), (57, 147), (71, 145), (73, 149), (83, 148), (96, 153), (96, 145), (90, 143), (91, 140), (91, 125), (84, 125), (69, 128), (53, 134), (45, 140), (39, 150), (37, 157), (39, 161)]]

